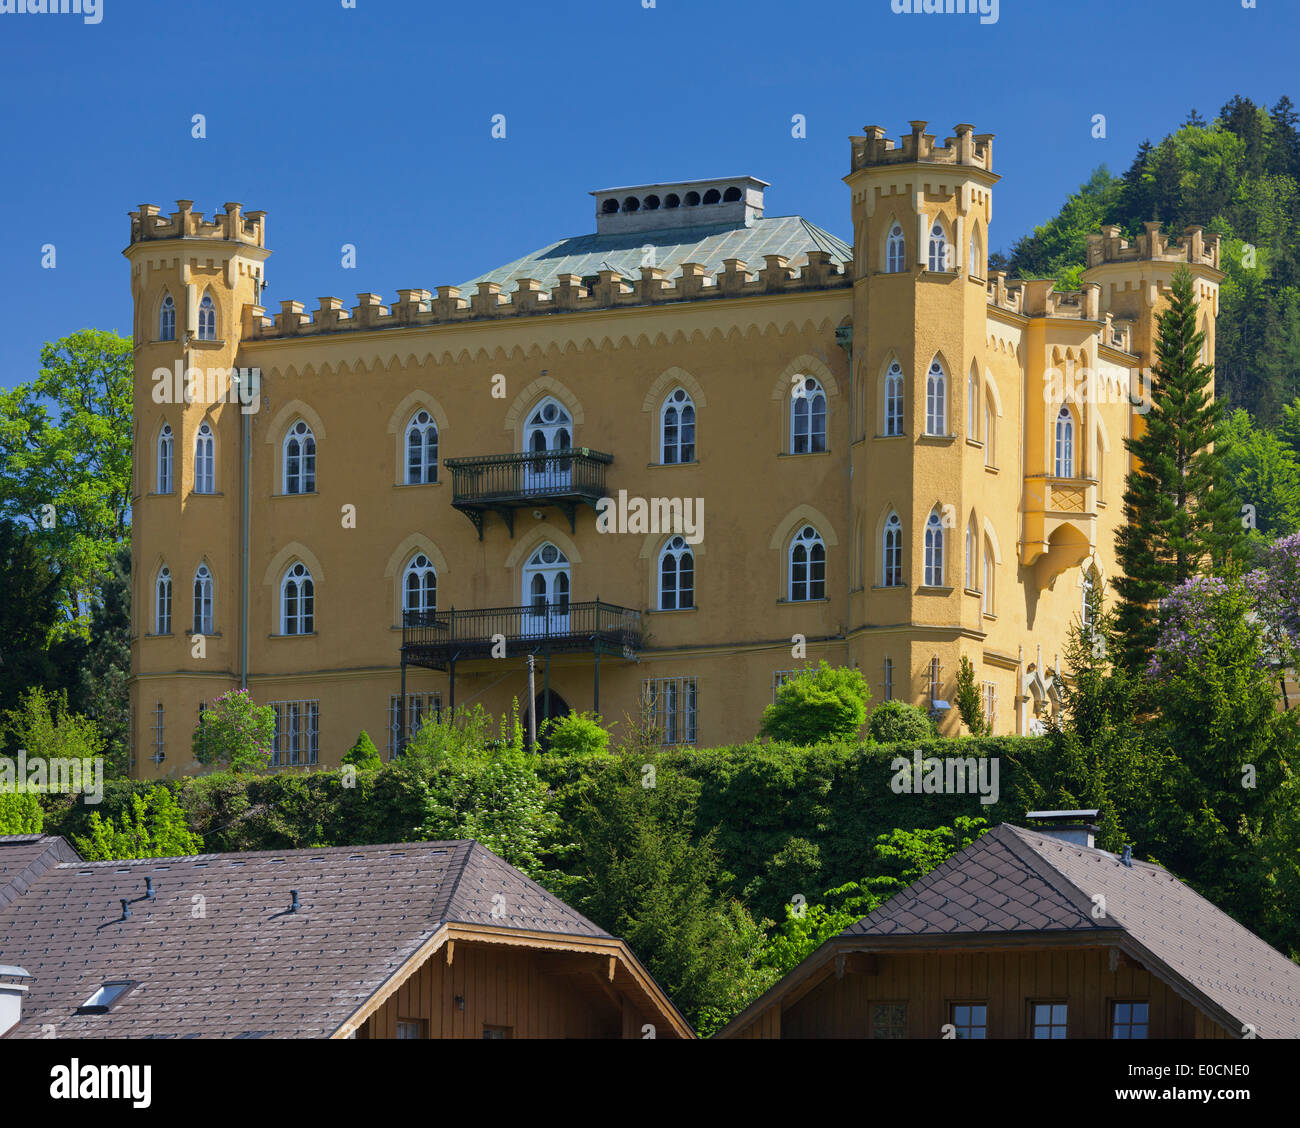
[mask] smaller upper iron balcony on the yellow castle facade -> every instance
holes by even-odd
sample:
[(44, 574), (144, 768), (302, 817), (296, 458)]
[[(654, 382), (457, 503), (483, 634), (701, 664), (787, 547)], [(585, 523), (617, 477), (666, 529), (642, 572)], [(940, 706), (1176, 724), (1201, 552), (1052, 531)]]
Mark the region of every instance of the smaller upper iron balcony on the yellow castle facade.
[(575, 530), (578, 506), (593, 509), (606, 496), (604, 468), (614, 455), (581, 450), (526, 451), (447, 459), (451, 504), (484, 537), (484, 515), (499, 513), (515, 535), (515, 509), (558, 506)]

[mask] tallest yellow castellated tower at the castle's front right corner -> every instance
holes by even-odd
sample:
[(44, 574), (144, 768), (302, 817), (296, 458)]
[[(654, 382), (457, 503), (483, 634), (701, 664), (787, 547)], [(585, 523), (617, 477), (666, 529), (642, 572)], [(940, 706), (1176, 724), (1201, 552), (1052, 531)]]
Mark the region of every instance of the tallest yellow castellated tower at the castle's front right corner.
[[(954, 133), (936, 146), (926, 122), (915, 121), (896, 144), (871, 126), (852, 139), (845, 177), (855, 265), (852, 506), (861, 556), (852, 596), (861, 626), (850, 651), (878, 699), (881, 687), (918, 703), (950, 699), (963, 647), (983, 633), (980, 600), (963, 598), (980, 586), (965, 572), (962, 543), (984, 508), (984, 459), (974, 446), (983, 411), (972, 425), (967, 387), (982, 383), (987, 365), (985, 261), (998, 178), (992, 135), (970, 125)], [(983, 403), (978, 394), (975, 400)], [(901, 538), (896, 550), (890, 525)], [(983, 530), (975, 537), (982, 542)]]

